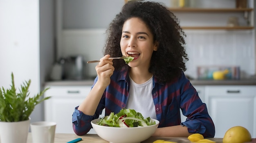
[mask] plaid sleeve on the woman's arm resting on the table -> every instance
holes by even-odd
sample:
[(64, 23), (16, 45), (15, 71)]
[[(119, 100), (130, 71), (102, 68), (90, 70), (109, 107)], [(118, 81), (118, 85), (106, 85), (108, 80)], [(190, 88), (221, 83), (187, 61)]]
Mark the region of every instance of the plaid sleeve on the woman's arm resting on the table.
[(188, 128), (189, 133), (199, 133), (204, 137), (214, 137), (215, 126), (207, 111), (207, 105), (199, 98), (196, 89), (189, 80), (180, 80), (181, 87), (181, 108), (182, 113), (187, 117), (182, 126)]

